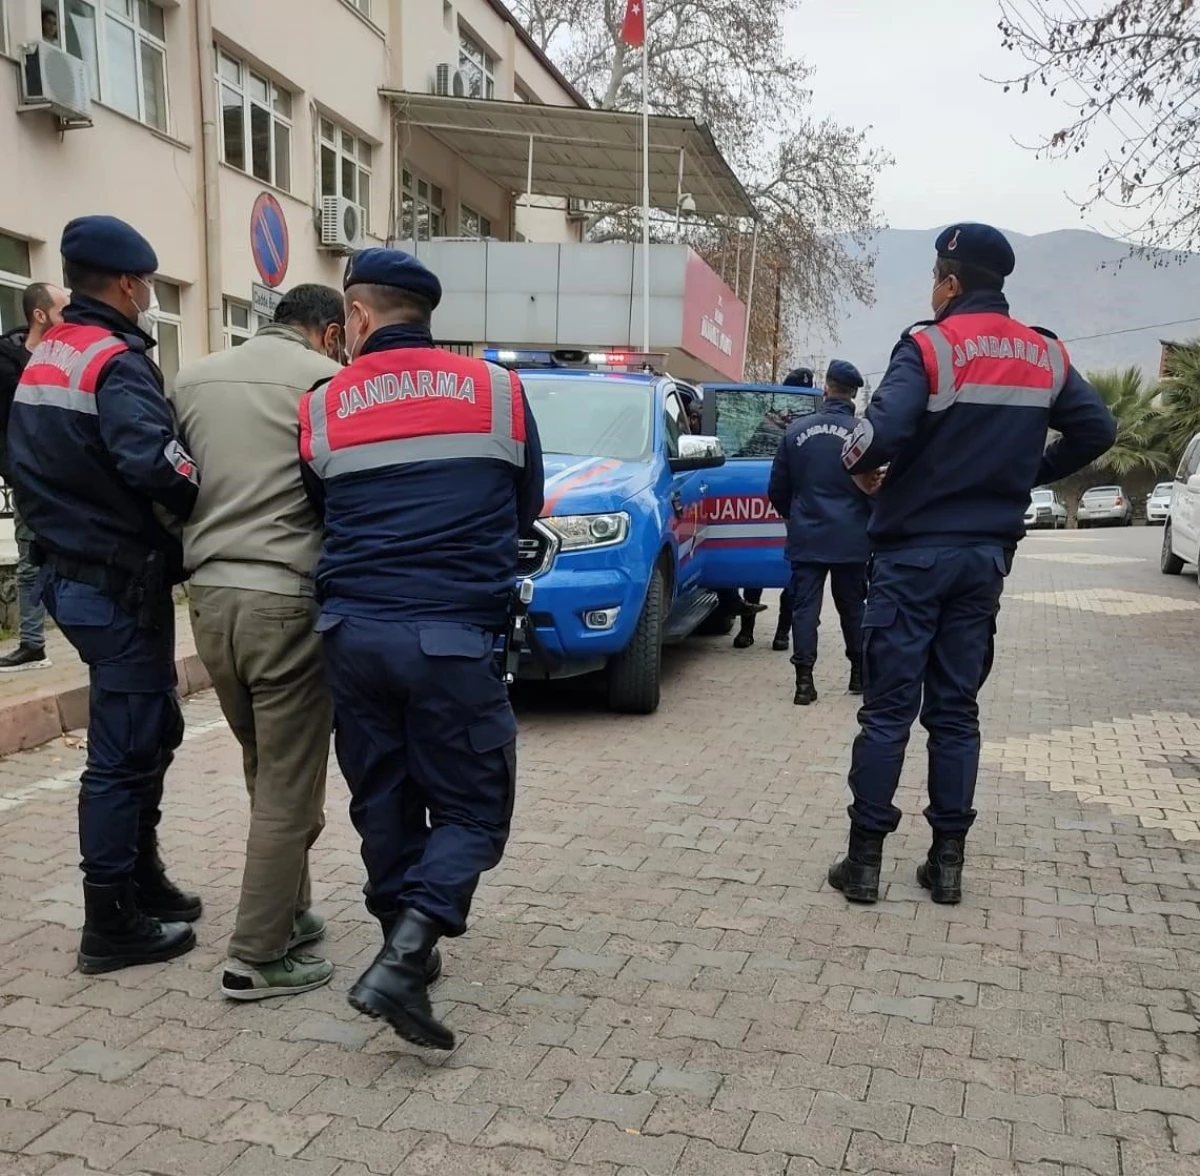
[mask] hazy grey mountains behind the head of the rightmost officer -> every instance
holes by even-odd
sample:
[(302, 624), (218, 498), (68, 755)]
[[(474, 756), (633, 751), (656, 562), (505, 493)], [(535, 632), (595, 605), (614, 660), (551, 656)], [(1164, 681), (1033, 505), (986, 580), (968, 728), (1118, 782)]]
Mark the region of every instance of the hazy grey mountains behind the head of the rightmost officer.
[[(800, 324), (796, 337), (805, 354), (793, 362), (823, 367), (836, 355), (877, 384), (900, 332), (929, 318), (937, 233), (880, 233), (871, 245), (875, 305), (846, 308), (836, 338)], [(1006, 282), (1014, 316), (1064, 340), (1081, 371), (1133, 365), (1153, 378), (1162, 340), (1200, 336), (1200, 253), (1133, 257), (1124, 242), (1080, 229), (1008, 238), (1016, 253), (1016, 272)]]

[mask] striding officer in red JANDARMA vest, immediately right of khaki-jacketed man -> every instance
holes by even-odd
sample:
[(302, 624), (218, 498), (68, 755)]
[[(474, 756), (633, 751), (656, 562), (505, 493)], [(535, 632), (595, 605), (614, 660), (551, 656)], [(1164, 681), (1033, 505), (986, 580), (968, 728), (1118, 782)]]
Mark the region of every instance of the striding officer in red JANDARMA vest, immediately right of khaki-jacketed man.
[(352, 362), (301, 402), (300, 444), (325, 521), (337, 758), (385, 932), (349, 998), (452, 1049), (427, 989), (509, 835), (516, 722), (493, 646), (542, 506), (541, 445), (515, 374), (433, 346), (442, 286), (416, 258), (364, 250), (344, 284)]

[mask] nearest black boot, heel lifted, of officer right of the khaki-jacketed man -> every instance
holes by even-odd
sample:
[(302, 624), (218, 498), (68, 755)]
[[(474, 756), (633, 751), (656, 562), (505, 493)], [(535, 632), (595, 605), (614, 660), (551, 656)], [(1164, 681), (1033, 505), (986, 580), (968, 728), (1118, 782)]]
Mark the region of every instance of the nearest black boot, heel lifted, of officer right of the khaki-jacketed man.
[(437, 923), (409, 907), (388, 934), (388, 942), (350, 989), (350, 1007), (386, 1021), (406, 1042), (452, 1050), (454, 1033), (433, 1016), (426, 973), (440, 937)]

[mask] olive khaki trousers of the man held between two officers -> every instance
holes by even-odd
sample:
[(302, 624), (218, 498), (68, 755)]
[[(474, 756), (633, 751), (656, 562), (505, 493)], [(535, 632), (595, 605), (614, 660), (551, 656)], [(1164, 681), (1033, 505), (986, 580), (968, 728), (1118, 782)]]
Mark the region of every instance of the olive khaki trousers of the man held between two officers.
[(312, 905), (308, 850), (325, 826), (334, 706), (316, 605), (244, 588), (192, 586), (196, 650), (241, 744), (250, 835), (229, 955), (268, 964), (287, 953)]

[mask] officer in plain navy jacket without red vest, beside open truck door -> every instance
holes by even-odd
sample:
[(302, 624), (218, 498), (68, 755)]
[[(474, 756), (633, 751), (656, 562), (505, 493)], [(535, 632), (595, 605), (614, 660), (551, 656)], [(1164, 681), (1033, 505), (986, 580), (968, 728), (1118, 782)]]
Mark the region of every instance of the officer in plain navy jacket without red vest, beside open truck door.
[(866, 523), (870, 498), (854, 485), (841, 451), (854, 430), (854, 395), (863, 377), (835, 359), (826, 374), (824, 407), (793, 421), (770, 468), (770, 504), (787, 520), (792, 565), (792, 664), (798, 707), (817, 701), (812, 667), (826, 576), (841, 618), (850, 660), (850, 692), (863, 692), (863, 601), (866, 596)]

